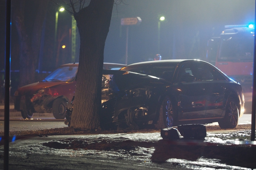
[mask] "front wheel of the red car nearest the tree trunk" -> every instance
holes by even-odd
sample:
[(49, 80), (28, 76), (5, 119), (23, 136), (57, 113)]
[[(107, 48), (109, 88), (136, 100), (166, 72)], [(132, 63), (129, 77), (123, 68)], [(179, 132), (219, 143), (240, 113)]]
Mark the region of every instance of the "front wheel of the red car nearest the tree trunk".
[(52, 114), (55, 119), (64, 119), (66, 111), (66, 100), (65, 99), (55, 99), (52, 104)]

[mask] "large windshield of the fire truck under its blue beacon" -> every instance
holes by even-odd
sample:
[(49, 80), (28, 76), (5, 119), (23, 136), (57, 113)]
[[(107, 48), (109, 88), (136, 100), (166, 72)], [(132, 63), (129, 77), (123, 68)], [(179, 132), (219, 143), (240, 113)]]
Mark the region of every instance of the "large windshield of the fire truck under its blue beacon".
[(228, 37), (221, 40), (218, 61), (248, 62), (253, 60), (253, 36)]

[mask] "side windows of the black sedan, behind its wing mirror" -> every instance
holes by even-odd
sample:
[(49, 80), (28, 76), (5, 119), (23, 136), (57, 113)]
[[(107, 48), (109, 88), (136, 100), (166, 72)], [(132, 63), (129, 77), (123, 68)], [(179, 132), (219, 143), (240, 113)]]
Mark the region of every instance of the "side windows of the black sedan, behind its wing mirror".
[(182, 82), (184, 75), (193, 75), (195, 81), (226, 80), (226, 78), (214, 67), (199, 62), (186, 62), (178, 72), (177, 80)]

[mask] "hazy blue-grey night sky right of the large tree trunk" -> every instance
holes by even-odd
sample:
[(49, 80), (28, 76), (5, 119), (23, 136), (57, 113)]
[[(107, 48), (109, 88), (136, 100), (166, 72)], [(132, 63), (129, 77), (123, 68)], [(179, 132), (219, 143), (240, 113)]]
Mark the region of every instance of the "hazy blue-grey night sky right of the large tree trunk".
[[(127, 0), (113, 9), (106, 40), (106, 62), (124, 63), (126, 28), (120, 19), (140, 17), (130, 26), (128, 64), (146, 61), (159, 53), (163, 59), (204, 59), (207, 40), (218, 36), (225, 25), (254, 23), (253, 0)], [(161, 23), (157, 48), (158, 16)]]

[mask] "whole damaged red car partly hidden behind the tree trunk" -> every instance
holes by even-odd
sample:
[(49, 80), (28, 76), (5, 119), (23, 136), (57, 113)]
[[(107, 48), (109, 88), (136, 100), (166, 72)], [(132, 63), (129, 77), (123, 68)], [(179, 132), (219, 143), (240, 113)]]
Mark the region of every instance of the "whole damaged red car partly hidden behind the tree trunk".
[[(119, 70), (124, 64), (104, 63), (105, 70)], [(15, 91), (14, 109), (24, 119), (34, 113), (53, 113), (56, 119), (65, 118), (65, 106), (74, 96), (78, 63), (64, 64), (40, 82), (25, 85)]]

